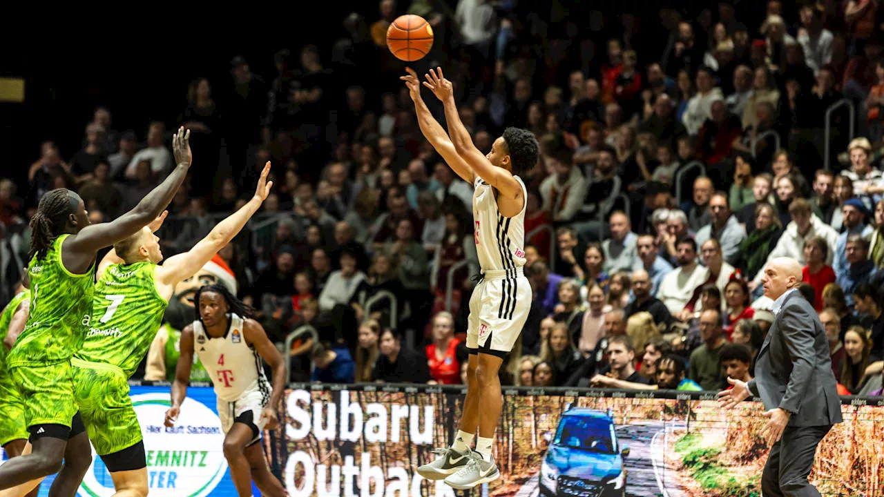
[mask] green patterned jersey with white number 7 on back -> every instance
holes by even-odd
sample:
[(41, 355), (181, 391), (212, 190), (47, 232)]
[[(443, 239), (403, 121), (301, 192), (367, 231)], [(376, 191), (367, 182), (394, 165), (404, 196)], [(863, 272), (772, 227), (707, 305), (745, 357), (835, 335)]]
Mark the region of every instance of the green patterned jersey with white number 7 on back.
[(133, 375), (156, 336), (169, 304), (156, 291), (156, 264), (111, 264), (95, 283), (92, 317), (74, 356), (107, 363)]

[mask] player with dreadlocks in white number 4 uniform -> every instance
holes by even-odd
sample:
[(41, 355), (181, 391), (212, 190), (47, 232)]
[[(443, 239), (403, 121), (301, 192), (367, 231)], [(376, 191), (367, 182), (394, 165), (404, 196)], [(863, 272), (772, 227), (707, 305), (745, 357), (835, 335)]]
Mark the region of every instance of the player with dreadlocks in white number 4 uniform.
[[(187, 397), (194, 348), (209, 371), (217, 394), (218, 417), (225, 432), (224, 455), (240, 497), (252, 495), (252, 476), (263, 495), (286, 495), (267, 468), (261, 431), (278, 426), (276, 409), (286, 387), (282, 355), (255, 319), (254, 310), (224, 285), (202, 287), (194, 296), (196, 320), (181, 331), (180, 356), (171, 386), (171, 408), (165, 425), (173, 426)], [(194, 345), (195, 344), (195, 345)], [(273, 370), (273, 388), (261, 359)], [(187, 407), (187, 406), (185, 406)]]

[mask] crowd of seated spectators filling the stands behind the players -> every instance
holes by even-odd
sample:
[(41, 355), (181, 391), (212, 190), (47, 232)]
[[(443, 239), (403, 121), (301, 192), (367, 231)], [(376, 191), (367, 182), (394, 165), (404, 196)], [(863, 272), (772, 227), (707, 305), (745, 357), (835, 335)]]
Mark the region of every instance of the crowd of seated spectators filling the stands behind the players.
[[(748, 380), (774, 319), (766, 262), (788, 256), (842, 394), (880, 395), (880, 0), (549, 4), (381, 0), (331, 46), (278, 50), (276, 73), (234, 57), (225, 80), (193, 81), (177, 117), (117, 130), (124, 103), (96, 109), (81, 149), (45, 141), (27, 183), (0, 180), (0, 302), (43, 194), (71, 188), (93, 222), (115, 218), (171, 170), (171, 128), (185, 126), (194, 166), (164, 253), (245, 203), (270, 160), (273, 192), (219, 256), (292, 354), (290, 379), (463, 382), (472, 187), (423, 140), (385, 49), (392, 19), (413, 13), (436, 33), (419, 71), (444, 67), (476, 147), (506, 126), (541, 143), (523, 179), (534, 300), (505, 384)], [(315, 334), (286, 340), (302, 330)]]

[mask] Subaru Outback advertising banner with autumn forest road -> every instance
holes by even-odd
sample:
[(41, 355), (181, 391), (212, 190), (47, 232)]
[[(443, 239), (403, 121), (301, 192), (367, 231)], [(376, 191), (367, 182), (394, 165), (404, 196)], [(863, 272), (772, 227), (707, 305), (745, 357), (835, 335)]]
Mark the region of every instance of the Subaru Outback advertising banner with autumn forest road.
[[(416, 468), (447, 447), (460, 388), (295, 387), (272, 451), (292, 497), (453, 497)], [(884, 495), (884, 401), (849, 400), (819, 446), (824, 495)], [(758, 497), (769, 447), (761, 403), (720, 409), (714, 394), (511, 389), (493, 455), (502, 473), (481, 495)], [(477, 494), (478, 495), (478, 494)]]

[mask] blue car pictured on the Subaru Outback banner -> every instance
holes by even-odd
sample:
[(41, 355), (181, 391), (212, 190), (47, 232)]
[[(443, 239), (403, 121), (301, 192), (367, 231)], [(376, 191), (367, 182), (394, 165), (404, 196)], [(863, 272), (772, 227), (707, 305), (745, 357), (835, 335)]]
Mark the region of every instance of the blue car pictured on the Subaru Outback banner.
[(626, 495), (623, 457), (610, 412), (568, 409), (540, 468), (540, 494), (567, 497)]

